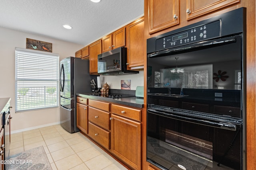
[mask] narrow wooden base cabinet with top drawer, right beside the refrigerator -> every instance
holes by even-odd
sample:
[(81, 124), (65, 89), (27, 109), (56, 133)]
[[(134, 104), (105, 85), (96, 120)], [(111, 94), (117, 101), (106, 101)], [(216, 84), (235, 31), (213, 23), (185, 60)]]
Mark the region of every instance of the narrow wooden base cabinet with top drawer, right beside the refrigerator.
[(77, 97), (76, 98), (76, 126), (83, 133), (88, 133), (88, 99)]

